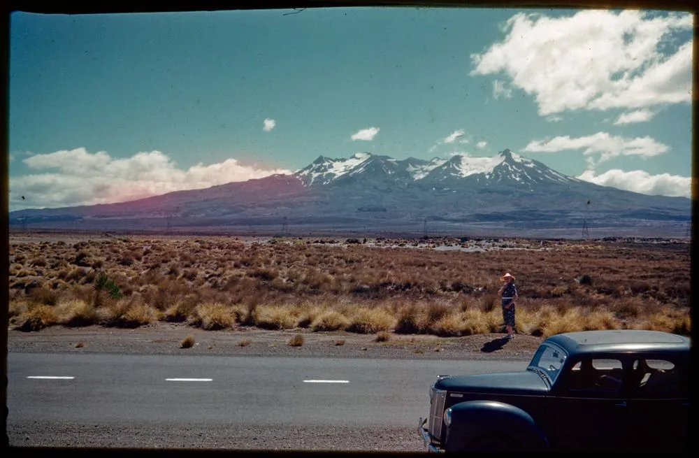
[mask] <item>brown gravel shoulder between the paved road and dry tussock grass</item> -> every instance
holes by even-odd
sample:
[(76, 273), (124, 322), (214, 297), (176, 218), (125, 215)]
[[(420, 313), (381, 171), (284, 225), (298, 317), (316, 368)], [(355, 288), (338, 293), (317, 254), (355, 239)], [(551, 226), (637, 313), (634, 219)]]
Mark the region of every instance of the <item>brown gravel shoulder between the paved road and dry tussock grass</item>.
[[(289, 340), (301, 334), (303, 345)], [(182, 348), (182, 340), (194, 345)], [(9, 352), (117, 353), (124, 355), (220, 355), (274, 357), (333, 357), (374, 359), (530, 359), (542, 339), (503, 334), (442, 338), (390, 334), (377, 342), (372, 334), (306, 329), (267, 331), (257, 328), (204, 331), (186, 325), (158, 323), (136, 329), (50, 327), (41, 331), (8, 331)]]

